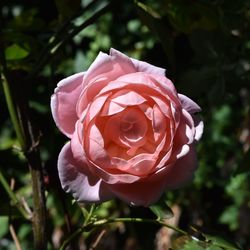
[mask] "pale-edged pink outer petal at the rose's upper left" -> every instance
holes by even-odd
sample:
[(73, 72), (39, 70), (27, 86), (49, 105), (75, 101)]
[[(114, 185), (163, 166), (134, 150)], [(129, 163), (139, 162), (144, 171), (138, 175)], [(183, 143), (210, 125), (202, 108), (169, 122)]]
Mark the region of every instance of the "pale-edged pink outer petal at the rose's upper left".
[(77, 121), (76, 103), (82, 90), (84, 72), (69, 76), (57, 85), (51, 97), (51, 110), (57, 127), (69, 138)]

